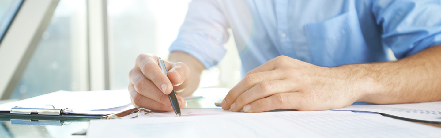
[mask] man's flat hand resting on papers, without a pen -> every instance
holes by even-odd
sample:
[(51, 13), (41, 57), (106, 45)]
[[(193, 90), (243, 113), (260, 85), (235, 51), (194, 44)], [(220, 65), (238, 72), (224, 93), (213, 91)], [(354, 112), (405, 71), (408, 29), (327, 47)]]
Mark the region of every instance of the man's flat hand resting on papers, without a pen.
[(363, 96), (356, 71), (312, 65), (279, 56), (251, 70), (232, 88), (221, 106), (224, 110), (262, 112), (347, 107)]

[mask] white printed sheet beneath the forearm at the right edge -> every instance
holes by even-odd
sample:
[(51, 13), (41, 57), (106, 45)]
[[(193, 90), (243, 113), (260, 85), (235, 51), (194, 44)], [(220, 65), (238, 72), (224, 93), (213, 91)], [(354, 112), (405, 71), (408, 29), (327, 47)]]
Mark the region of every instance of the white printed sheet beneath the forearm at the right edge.
[(408, 119), (441, 122), (441, 101), (404, 104), (363, 104), (337, 109), (339, 111), (371, 111)]

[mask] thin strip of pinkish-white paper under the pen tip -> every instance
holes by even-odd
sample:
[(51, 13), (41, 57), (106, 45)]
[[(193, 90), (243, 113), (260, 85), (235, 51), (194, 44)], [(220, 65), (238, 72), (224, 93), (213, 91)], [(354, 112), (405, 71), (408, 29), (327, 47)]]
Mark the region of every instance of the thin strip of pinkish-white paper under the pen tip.
[[(202, 116), (202, 115), (225, 115), (225, 114), (243, 114), (244, 112), (224, 111), (222, 108), (183, 108), (181, 109), (182, 116)], [(131, 114), (122, 117), (122, 119), (130, 119), (136, 116)], [(174, 111), (167, 112), (151, 112), (146, 115), (140, 115), (138, 118), (155, 118), (155, 117), (177, 117)]]

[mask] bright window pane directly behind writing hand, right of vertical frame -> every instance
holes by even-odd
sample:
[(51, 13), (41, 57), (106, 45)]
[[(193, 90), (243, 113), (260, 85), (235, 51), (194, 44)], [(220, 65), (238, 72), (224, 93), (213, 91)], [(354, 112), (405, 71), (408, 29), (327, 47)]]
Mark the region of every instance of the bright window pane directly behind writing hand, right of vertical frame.
[[(139, 54), (168, 57), (190, 1), (108, 0), (111, 89), (127, 89), (127, 74)], [(232, 88), (240, 80), (240, 59), (232, 37), (225, 47), (224, 60), (202, 73), (200, 87)]]

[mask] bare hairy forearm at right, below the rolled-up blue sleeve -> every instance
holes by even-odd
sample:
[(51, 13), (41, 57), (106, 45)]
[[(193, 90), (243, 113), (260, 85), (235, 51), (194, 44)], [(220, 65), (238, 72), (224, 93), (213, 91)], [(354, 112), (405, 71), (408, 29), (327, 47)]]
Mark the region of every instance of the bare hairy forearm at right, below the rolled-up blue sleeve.
[(359, 77), (359, 101), (389, 104), (441, 100), (441, 46), (398, 61), (345, 65)]

